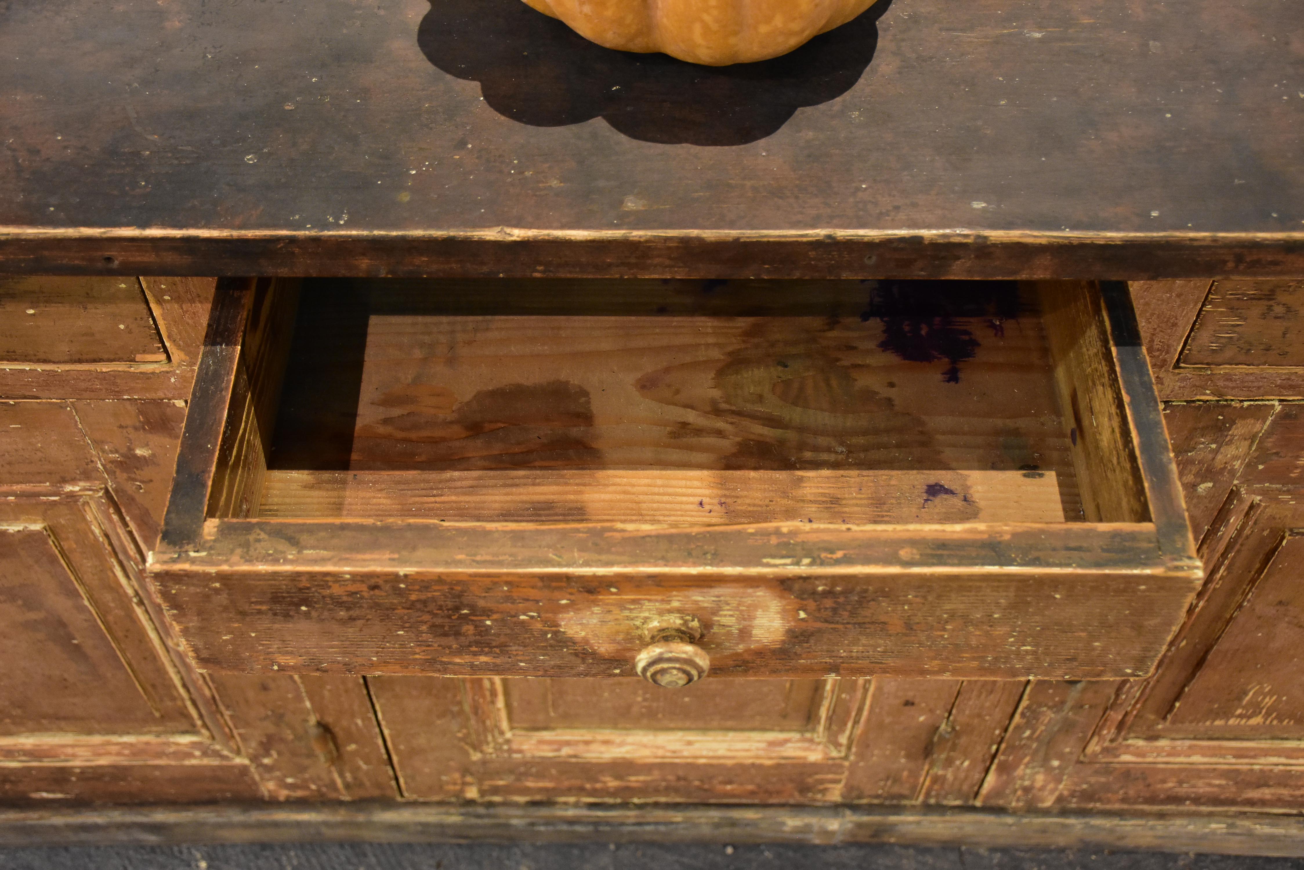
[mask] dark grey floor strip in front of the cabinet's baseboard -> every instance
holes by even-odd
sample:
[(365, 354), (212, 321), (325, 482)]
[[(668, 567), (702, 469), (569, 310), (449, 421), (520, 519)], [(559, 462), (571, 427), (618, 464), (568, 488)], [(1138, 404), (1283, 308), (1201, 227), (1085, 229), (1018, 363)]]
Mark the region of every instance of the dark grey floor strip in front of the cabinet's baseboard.
[(1304, 858), (891, 845), (216, 845), (0, 849), (0, 870), (1304, 870)]

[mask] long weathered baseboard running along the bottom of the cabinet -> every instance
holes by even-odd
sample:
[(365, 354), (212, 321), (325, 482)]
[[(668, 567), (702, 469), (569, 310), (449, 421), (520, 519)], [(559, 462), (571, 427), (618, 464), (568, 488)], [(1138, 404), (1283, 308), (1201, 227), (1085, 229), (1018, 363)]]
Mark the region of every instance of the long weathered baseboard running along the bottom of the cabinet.
[(971, 809), (218, 805), (0, 810), (0, 845), (218, 843), (891, 843), (1301, 856), (1304, 817)]

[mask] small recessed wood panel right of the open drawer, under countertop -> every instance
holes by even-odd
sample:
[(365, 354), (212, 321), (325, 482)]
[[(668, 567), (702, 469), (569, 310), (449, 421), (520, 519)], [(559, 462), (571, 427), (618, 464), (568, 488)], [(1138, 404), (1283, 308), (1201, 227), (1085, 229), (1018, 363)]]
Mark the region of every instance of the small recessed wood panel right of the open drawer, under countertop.
[(1218, 280), (1183, 365), (1304, 367), (1304, 280)]

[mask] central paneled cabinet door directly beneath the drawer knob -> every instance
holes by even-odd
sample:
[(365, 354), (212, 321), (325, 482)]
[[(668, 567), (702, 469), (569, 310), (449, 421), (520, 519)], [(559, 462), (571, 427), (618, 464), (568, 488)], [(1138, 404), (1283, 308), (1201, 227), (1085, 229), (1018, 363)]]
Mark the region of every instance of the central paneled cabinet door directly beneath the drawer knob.
[(426, 800), (966, 803), (1022, 691), (952, 680), (369, 677)]

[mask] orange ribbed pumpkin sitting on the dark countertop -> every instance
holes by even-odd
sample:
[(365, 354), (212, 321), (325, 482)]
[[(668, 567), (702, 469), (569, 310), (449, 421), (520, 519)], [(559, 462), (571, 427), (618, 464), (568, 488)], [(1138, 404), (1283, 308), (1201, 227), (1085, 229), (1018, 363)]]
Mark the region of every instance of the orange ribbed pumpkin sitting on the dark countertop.
[(724, 67), (785, 55), (874, 0), (526, 0), (585, 39)]

